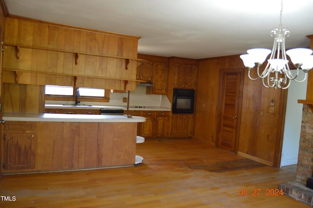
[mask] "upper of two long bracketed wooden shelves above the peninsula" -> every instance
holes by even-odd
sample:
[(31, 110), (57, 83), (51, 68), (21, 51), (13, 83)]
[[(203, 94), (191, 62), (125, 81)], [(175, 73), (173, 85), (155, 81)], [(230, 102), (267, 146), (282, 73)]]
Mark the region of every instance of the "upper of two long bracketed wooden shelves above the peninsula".
[(36, 49), (36, 50), (44, 50), (44, 51), (53, 51), (53, 52), (62, 52), (62, 53), (73, 53), (75, 57), (75, 65), (78, 64), (79, 55), (88, 55), (88, 56), (96, 56), (96, 57), (106, 57), (106, 58), (112, 58), (112, 59), (124, 59), (126, 61), (126, 68), (128, 69), (128, 65), (131, 61), (139, 62), (140, 64), (147, 63), (149, 61), (144, 59), (136, 59), (136, 58), (129, 58), (129, 57), (123, 57), (123, 56), (112, 56), (112, 55), (106, 55), (106, 54), (97, 54), (97, 53), (87, 53), (87, 52), (78, 52), (78, 51), (70, 51), (70, 50), (63, 50), (63, 49), (55, 49), (55, 48), (46, 48), (46, 47), (36, 47), (36, 46), (24, 46), (24, 45), (17, 45), (17, 44), (3, 44), (3, 48), (6, 48), (5, 46), (13, 46), (16, 49), (16, 58), (20, 59), (20, 48), (28, 48), (28, 49)]

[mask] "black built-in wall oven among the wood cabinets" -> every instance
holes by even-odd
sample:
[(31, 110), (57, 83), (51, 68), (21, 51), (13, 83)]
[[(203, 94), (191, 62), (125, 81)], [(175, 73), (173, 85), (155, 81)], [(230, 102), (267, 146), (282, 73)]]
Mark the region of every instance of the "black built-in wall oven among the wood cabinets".
[(173, 114), (193, 114), (195, 104), (195, 90), (174, 88)]

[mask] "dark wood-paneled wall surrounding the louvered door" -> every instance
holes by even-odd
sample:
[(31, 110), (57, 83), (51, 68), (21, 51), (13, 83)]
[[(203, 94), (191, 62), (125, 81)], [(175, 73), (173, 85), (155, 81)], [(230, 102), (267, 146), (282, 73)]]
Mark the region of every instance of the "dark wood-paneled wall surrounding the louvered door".
[[(244, 68), (239, 56), (199, 60), (196, 89), (194, 137), (213, 146), (218, 139), (218, 105), (221, 69)], [(269, 165), (280, 160), (286, 90), (263, 87), (261, 80), (252, 81), (245, 69), (242, 115), (239, 128), (238, 154)], [(274, 99), (274, 113), (268, 113)], [(260, 112), (263, 111), (263, 116)]]

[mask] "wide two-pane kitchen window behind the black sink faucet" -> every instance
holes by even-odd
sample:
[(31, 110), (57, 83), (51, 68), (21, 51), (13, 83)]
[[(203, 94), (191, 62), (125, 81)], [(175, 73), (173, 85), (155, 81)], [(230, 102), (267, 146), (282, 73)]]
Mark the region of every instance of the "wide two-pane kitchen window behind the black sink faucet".
[(45, 86), (46, 100), (75, 101), (78, 90), (79, 101), (109, 102), (110, 91), (95, 88), (74, 88), (70, 86)]

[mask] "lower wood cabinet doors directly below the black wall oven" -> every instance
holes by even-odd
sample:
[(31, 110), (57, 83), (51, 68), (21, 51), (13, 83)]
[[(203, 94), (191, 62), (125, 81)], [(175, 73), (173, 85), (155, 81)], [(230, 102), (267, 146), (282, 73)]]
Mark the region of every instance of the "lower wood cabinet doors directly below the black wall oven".
[(193, 131), (193, 114), (173, 114), (171, 137), (191, 137)]

